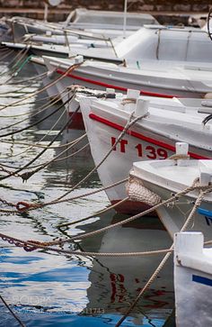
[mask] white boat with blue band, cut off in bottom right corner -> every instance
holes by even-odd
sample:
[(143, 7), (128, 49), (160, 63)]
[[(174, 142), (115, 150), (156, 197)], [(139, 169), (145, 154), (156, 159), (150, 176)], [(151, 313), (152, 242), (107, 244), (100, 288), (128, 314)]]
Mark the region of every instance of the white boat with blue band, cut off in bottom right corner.
[(212, 325), (212, 249), (200, 232), (181, 232), (174, 241), (174, 291), (179, 327)]

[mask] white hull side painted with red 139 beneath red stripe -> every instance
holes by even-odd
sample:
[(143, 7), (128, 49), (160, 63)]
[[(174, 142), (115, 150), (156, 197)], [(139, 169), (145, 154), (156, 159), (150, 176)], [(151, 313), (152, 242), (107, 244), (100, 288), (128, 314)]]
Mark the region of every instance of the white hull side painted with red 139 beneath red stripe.
[[(91, 100), (92, 101), (92, 100)], [(93, 107), (93, 113), (89, 113), (87, 101), (81, 102), (81, 110), (84, 116), (84, 124), (91, 146), (95, 165), (99, 165), (117, 141), (120, 132), (128, 122), (127, 119), (112, 113), (103, 112)], [(97, 118), (98, 117), (98, 118)], [(101, 118), (101, 119), (100, 119)], [(156, 122), (155, 122), (156, 126)], [(210, 155), (206, 150), (190, 147), (193, 156)], [(175, 140), (157, 134), (154, 129), (147, 131), (144, 126), (133, 126), (124, 135), (114, 150), (102, 165), (98, 168), (98, 174), (103, 186), (109, 186), (120, 180), (128, 178), (129, 170), (133, 162), (150, 159), (166, 159), (175, 152)], [(127, 197), (125, 183), (113, 186), (106, 190), (112, 204)], [(140, 202), (126, 201), (116, 208), (121, 213), (140, 213), (148, 206)]]

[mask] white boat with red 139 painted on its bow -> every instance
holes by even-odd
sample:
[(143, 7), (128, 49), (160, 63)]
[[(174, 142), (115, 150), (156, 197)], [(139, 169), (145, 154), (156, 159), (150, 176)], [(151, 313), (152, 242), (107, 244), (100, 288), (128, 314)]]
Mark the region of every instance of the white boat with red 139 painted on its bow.
[[(190, 157), (193, 159), (212, 158), (212, 122), (202, 123), (211, 113), (211, 107), (205, 106), (210, 102), (177, 98), (146, 100), (145, 97), (135, 100), (135, 97), (135, 91), (128, 92), (129, 104), (128, 100), (122, 101), (121, 96), (110, 101), (83, 95), (79, 99), (95, 165), (101, 162), (117, 141), (132, 112), (134, 118), (144, 115), (130, 127), (109, 158), (98, 168), (103, 186), (128, 177), (132, 163), (138, 159), (167, 159), (175, 152), (176, 141), (190, 144)], [(106, 192), (112, 204), (127, 196), (123, 185)], [(137, 201), (127, 201), (119, 205), (119, 211), (134, 213), (146, 207), (146, 204)]]

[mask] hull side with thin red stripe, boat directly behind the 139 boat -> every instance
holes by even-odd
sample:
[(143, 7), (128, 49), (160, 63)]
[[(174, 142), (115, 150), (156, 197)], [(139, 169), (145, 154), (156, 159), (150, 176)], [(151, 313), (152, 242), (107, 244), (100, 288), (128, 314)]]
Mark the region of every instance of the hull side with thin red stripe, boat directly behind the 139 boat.
[[(69, 68), (67, 66), (67, 68)], [(51, 70), (54, 68), (51, 67)], [(58, 77), (64, 75), (65, 69), (57, 68)], [(67, 79), (67, 81), (66, 81)], [(209, 87), (195, 88), (195, 83), (190, 86), (189, 81), (175, 81), (173, 85), (172, 78), (158, 78), (154, 74), (152, 77), (141, 74), (123, 74), (119, 71), (110, 71), (109, 69), (92, 68), (82, 69), (76, 68), (74, 72), (67, 74), (63, 79), (64, 86), (66, 85), (83, 85), (87, 88), (95, 88), (105, 90), (105, 88), (113, 88), (117, 92), (121, 91), (126, 93), (127, 90), (136, 89), (140, 90), (141, 95), (155, 95), (162, 97), (196, 97), (202, 98), (204, 95), (211, 91)], [(173, 85), (173, 86), (172, 86)]]

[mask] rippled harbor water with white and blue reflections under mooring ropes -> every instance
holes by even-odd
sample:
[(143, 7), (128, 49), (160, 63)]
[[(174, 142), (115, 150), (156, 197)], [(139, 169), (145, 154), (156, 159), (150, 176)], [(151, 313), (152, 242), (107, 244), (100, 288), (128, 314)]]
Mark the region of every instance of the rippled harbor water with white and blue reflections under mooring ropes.
[[(3, 72), (7, 69), (4, 63)], [(19, 85), (8, 86), (10, 77), (0, 77), (0, 109), (4, 104), (18, 100), (17, 96), (30, 95), (41, 87), (36, 80), (29, 84), (24, 78), (35, 75), (30, 64), (23, 68), (18, 77), (10, 83), (20, 81)], [(24, 89), (18, 91), (22, 86)], [(0, 110), (0, 135), (15, 131), (40, 120), (43, 113), (37, 113), (46, 94), (35, 95), (22, 104)], [(50, 109), (52, 110), (52, 108)], [(33, 159), (43, 148), (30, 147), (21, 142), (35, 144), (40, 141), (46, 146), (64, 124), (66, 115), (53, 124), (62, 112), (48, 120), (19, 132), (1, 138), (1, 164), (22, 167)], [(46, 114), (46, 113), (45, 113)], [(24, 121), (22, 121), (25, 119)], [(7, 126), (18, 123), (8, 128)], [(62, 136), (54, 142), (63, 143)], [(12, 141), (5, 143), (3, 141)], [(57, 150), (47, 150), (34, 165), (54, 158)], [(21, 177), (9, 177), (1, 181), (0, 198), (16, 204), (19, 201), (47, 202), (63, 195), (93, 168), (90, 158), (74, 158), (52, 163), (32, 176), (27, 183)], [(9, 168), (8, 168), (9, 169)], [(100, 188), (97, 174), (78, 187), (72, 195), (82, 195)], [(1, 213), (2, 233), (22, 240), (52, 241), (71, 237), (83, 232), (92, 232), (108, 224), (118, 222), (127, 216), (110, 211), (84, 223), (76, 223), (69, 228), (60, 229), (58, 224), (74, 222), (105, 208), (109, 204), (104, 192), (63, 204), (55, 204), (30, 213), (5, 215)], [(3, 207), (4, 204), (2, 204)], [(7, 207), (8, 208), (8, 207)], [(99, 233), (83, 241), (65, 246), (69, 250), (128, 252), (166, 249), (171, 245), (168, 234), (155, 218), (146, 217), (134, 223)], [(13, 244), (0, 241), (1, 295), (22, 319), (26, 326), (114, 326), (129, 304), (136, 298), (139, 290), (154, 272), (162, 256), (130, 258), (90, 258), (81, 256), (62, 256), (45, 250), (25, 252)], [(172, 310), (174, 296), (172, 286), (172, 259), (167, 263), (154, 284), (139, 301), (133, 313), (123, 322), (123, 326), (174, 326)], [(0, 326), (17, 326), (13, 316), (0, 304)]]

